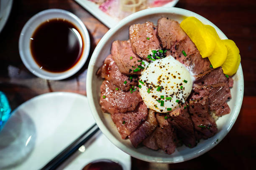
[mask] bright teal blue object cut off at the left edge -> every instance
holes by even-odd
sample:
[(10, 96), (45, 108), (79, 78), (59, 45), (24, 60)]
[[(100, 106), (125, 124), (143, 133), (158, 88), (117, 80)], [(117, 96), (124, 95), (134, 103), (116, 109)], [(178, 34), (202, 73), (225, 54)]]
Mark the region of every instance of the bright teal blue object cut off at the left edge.
[(9, 119), (11, 108), (6, 95), (0, 91), (0, 130), (2, 130), (5, 122)]

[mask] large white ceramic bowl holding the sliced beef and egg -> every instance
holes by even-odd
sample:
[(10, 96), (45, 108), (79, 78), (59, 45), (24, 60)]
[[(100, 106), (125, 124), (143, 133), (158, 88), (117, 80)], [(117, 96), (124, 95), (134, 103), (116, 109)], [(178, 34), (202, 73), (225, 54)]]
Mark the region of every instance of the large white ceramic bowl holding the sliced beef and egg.
[[(87, 97), (92, 114), (100, 130), (107, 136), (107, 138), (118, 148), (135, 158), (156, 163), (179, 163), (196, 158), (220, 143), (232, 128), (239, 114), (243, 100), (244, 87), (241, 65), (239, 66), (236, 75), (233, 77), (234, 86), (231, 89), (232, 99), (228, 101), (228, 105), (231, 108), (230, 114), (224, 115), (217, 120), (218, 133), (216, 135), (208, 140), (201, 140), (195, 148), (190, 149), (182, 146), (177, 148), (172, 155), (167, 155), (162, 150), (155, 151), (146, 147), (133, 148), (130, 140), (121, 139), (110, 115), (108, 113), (103, 113), (100, 109), (99, 100), (102, 79), (96, 76), (96, 71), (102, 65), (103, 60), (110, 54), (111, 43), (114, 40), (128, 40), (128, 29), (132, 24), (145, 23), (146, 21), (152, 21), (156, 24), (157, 20), (161, 17), (169, 17), (180, 23), (184, 18), (189, 16), (198, 18), (204, 24), (212, 25), (221, 39), (227, 39), (219, 28), (196, 13), (175, 7), (158, 7), (140, 11), (120, 21), (115, 28), (110, 29), (104, 37), (102, 37), (92, 54), (87, 72)], [(217, 139), (218, 142), (216, 142)]]

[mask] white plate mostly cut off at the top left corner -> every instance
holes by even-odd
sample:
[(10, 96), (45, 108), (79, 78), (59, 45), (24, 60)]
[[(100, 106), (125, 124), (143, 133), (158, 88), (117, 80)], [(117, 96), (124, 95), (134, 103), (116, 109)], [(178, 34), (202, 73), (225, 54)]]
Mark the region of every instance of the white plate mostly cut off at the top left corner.
[(0, 32), (8, 20), (12, 5), (13, 0), (0, 0)]

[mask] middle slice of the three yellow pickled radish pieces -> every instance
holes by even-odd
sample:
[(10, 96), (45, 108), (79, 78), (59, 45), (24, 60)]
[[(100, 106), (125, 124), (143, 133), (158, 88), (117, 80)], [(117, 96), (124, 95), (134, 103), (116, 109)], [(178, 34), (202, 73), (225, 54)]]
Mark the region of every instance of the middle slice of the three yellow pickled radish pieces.
[(220, 40), (216, 30), (210, 25), (204, 25), (205, 31), (210, 34), (212, 40), (215, 41), (216, 45), (212, 52), (212, 54), (208, 57), (210, 60), (212, 67), (217, 68), (223, 65), (227, 58), (228, 50), (225, 44)]

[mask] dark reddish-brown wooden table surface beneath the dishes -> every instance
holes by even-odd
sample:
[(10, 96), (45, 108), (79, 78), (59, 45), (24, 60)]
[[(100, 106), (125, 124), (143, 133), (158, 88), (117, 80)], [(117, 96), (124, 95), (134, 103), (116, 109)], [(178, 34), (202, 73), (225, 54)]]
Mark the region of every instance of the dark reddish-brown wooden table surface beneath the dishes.
[[(132, 158), (132, 170), (256, 169), (256, 2), (179, 0), (176, 7), (204, 16), (236, 42), (244, 75), (243, 105), (230, 133), (204, 155), (170, 165)], [(33, 75), (23, 65), (18, 52), (18, 39), (23, 25), (36, 13), (49, 8), (68, 10), (77, 15), (86, 25), (91, 38), (90, 55), (84, 67), (74, 76), (60, 81), (48, 81)], [(0, 33), (0, 90), (8, 96), (12, 109), (46, 92), (69, 91), (85, 95), (90, 56), (108, 30), (108, 27), (73, 0), (14, 0), (9, 20)]]

